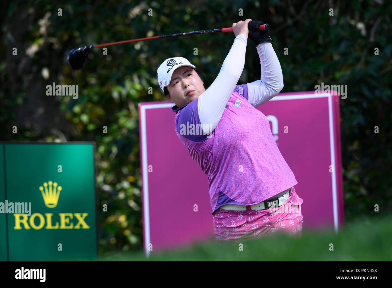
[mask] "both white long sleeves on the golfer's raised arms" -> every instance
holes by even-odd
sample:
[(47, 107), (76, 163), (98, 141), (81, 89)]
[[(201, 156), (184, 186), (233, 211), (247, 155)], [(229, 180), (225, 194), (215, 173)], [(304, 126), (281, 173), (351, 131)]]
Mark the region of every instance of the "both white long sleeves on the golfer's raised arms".
[[(240, 79), (245, 65), (246, 46), (247, 37), (238, 35), (218, 76), (198, 98), (198, 114), (200, 123), (205, 124), (202, 127), (206, 134), (211, 134), (218, 125), (227, 101)], [(272, 44), (265, 42), (256, 48), (261, 64), (261, 79), (247, 83), (248, 101), (254, 107), (269, 101), (283, 89), (283, 73)]]

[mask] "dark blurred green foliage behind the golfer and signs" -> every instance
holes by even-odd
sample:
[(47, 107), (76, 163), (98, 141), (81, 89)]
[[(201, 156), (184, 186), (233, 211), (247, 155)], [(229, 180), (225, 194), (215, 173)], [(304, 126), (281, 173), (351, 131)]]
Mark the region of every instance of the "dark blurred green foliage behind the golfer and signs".
[[(231, 27), (251, 18), (270, 24), (283, 70), (282, 92), (312, 91), (321, 82), (347, 85), (347, 99), (341, 100), (345, 217), (351, 221), (374, 215), (375, 204), (383, 214), (392, 207), (392, 5), (387, 2), (333, 1), (331, 7), (321, 0), (4, 3), (0, 140), (96, 141), (98, 201), (108, 205), (108, 212), (99, 213), (100, 251), (138, 250), (143, 245), (138, 103), (166, 100), (156, 69), (171, 56), (194, 63), (207, 88), (234, 34), (108, 46), (107, 56), (100, 48), (91, 49), (81, 71), (70, 70), (67, 54), (84, 45)], [(329, 15), (330, 8), (334, 16)], [(13, 47), (17, 55), (12, 54)], [(288, 55), (283, 54), (285, 47)], [(251, 40), (245, 61), (239, 83), (260, 79), (260, 61)], [(78, 99), (47, 96), (45, 87), (53, 82), (79, 85)], [(17, 134), (12, 133), (14, 125)]]

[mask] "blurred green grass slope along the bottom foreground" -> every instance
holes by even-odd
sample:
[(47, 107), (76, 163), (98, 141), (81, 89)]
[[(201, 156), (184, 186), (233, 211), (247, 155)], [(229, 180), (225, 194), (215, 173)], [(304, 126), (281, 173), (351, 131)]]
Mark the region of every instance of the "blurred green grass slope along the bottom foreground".
[[(392, 214), (364, 217), (346, 223), (338, 234), (333, 230), (303, 230), (301, 238), (272, 235), (239, 246), (220, 246), (214, 241), (196, 242), (173, 250), (111, 252), (98, 261), (391, 261)], [(334, 250), (330, 251), (330, 243)]]

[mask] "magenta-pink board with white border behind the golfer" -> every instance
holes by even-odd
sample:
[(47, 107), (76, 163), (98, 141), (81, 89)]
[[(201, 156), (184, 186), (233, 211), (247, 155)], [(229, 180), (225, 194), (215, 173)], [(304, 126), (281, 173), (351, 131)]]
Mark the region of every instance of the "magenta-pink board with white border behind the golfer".
[[(178, 139), (172, 105), (139, 103), (147, 256), (151, 245), (157, 251), (214, 237), (208, 178)], [(270, 121), (272, 135), (298, 181), (303, 229), (330, 226), (337, 232), (344, 221), (339, 96), (281, 93), (256, 109)]]

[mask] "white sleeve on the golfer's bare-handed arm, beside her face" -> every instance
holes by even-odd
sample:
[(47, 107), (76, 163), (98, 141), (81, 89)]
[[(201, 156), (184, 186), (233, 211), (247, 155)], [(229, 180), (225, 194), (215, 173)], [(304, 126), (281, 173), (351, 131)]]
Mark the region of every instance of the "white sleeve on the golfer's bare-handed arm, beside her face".
[(240, 79), (245, 65), (247, 40), (245, 34), (236, 36), (218, 76), (198, 98), (198, 114), (206, 134), (210, 134), (218, 125), (227, 101)]

